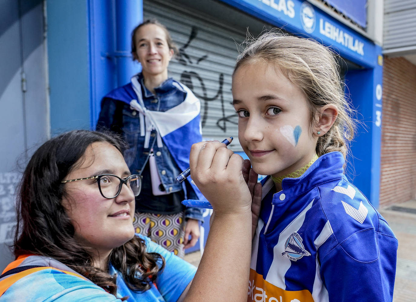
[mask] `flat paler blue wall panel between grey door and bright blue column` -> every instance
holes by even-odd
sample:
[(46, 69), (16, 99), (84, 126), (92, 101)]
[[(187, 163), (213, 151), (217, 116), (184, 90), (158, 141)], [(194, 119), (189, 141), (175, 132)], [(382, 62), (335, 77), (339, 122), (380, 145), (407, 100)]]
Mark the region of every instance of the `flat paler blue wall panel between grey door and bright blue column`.
[(47, 0), (51, 134), (89, 129), (87, 0)]

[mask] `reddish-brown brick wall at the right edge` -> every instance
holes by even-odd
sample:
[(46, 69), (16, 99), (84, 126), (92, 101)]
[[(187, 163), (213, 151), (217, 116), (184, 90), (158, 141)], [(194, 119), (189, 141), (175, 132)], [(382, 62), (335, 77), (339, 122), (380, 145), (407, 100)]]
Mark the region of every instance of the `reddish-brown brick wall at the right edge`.
[(380, 207), (416, 199), (416, 65), (384, 58)]

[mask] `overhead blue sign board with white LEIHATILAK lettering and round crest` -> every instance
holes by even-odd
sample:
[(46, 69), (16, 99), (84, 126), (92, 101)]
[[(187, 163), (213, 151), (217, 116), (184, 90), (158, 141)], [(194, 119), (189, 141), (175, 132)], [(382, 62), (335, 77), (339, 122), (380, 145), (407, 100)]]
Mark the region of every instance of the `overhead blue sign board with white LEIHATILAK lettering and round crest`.
[[(376, 65), (375, 44), (308, 1), (223, 0), (272, 25), (295, 35), (312, 37), (332, 47), (342, 57), (363, 67)], [(378, 53), (377, 53), (378, 54)]]

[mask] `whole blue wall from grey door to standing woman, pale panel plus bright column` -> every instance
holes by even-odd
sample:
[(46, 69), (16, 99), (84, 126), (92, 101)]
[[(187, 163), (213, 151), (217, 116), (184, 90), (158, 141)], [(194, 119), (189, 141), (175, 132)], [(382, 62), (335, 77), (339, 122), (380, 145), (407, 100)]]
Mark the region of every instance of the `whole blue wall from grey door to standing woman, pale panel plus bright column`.
[(47, 0), (51, 133), (95, 129), (100, 100), (138, 72), (131, 30), (142, 0)]

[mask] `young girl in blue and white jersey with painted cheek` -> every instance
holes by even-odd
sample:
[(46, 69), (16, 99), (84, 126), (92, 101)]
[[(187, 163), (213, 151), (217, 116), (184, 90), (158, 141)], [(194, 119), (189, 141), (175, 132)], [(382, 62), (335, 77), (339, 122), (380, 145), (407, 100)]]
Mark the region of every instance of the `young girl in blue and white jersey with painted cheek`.
[(391, 301), (397, 239), (344, 176), (352, 110), (332, 52), (267, 33), (233, 73), (238, 138), (262, 181), (248, 301)]

